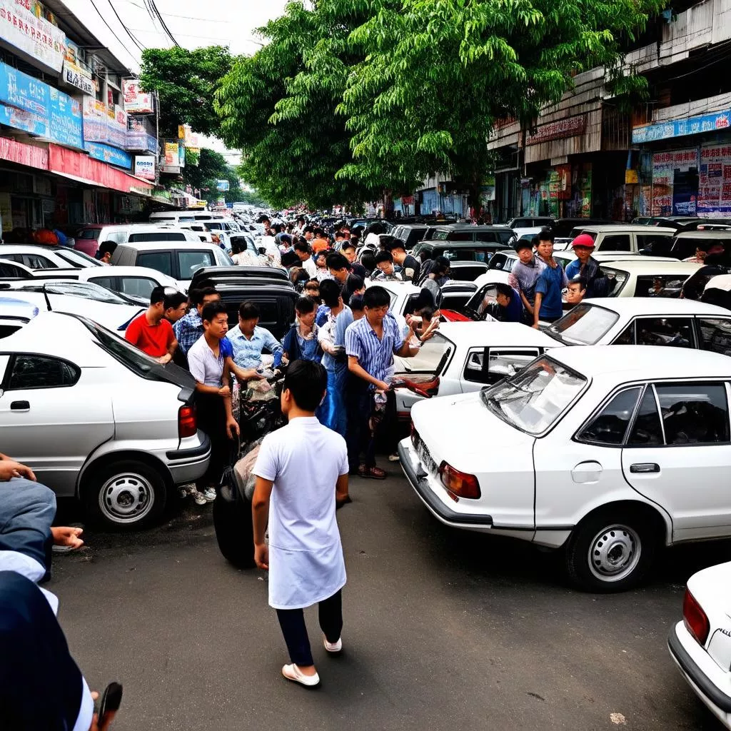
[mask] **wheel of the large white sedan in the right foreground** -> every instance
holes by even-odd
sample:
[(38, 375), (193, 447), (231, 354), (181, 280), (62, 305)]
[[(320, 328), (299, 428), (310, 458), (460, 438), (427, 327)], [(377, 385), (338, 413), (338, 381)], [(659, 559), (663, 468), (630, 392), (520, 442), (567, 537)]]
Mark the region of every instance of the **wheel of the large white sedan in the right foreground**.
[(564, 552), (569, 578), (584, 591), (637, 586), (654, 563), (659, 535), (641, 510), (602, 510), (579, 523)]

